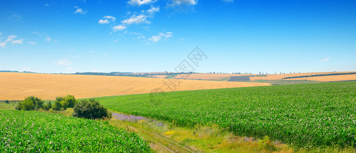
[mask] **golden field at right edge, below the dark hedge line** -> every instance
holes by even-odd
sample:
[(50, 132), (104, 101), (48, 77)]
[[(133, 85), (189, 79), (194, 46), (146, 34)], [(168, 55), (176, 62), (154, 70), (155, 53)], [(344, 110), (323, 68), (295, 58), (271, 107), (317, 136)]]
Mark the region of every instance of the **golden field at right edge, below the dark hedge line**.
[(292, 78), (284, 80), (312, 80), (312, 81), (350, 81), (356, 80), (356, 74), (347, 74), (347, 75), (327, 75), (319, 77), (305, 77), (305, 78)]

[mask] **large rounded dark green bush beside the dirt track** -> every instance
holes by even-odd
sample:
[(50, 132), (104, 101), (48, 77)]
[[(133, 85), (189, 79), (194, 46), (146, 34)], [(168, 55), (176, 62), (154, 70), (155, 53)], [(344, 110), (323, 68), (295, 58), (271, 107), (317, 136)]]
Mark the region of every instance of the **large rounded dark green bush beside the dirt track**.
[(84, 99), (75, 104), (73, 116), (88, 119), (111, 118), (111, 113), (98, 100)]

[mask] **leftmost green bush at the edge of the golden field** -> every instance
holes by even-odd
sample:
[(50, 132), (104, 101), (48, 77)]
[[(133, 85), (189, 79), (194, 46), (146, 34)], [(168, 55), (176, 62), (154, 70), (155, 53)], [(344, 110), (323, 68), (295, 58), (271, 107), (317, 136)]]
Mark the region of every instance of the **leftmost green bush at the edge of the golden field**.
[(32, 111), (43, 108), (44, 101), (35, 96), (26, 97), (23, 101), (18, 102), (16, 110)]

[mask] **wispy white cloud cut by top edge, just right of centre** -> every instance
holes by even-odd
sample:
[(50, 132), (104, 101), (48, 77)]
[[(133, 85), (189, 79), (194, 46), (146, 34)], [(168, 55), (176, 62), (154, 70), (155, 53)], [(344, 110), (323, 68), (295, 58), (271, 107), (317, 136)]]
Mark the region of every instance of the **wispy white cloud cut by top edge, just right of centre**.
[(167, 7), (177, 11), (188, 12), (194, 10), (193, 7), (197, 3), (198, 0), (171, 0), (171, 3), (167, 3)]

